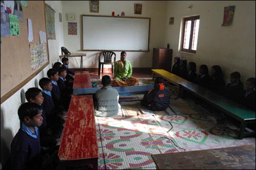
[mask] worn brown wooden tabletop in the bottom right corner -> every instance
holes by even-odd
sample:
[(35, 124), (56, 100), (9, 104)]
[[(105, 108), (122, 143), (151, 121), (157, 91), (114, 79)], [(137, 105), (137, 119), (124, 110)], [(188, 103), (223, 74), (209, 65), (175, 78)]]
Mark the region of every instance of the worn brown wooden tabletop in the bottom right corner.
[(151, 156), (158, 169), (255, 169), (255, 145)]

